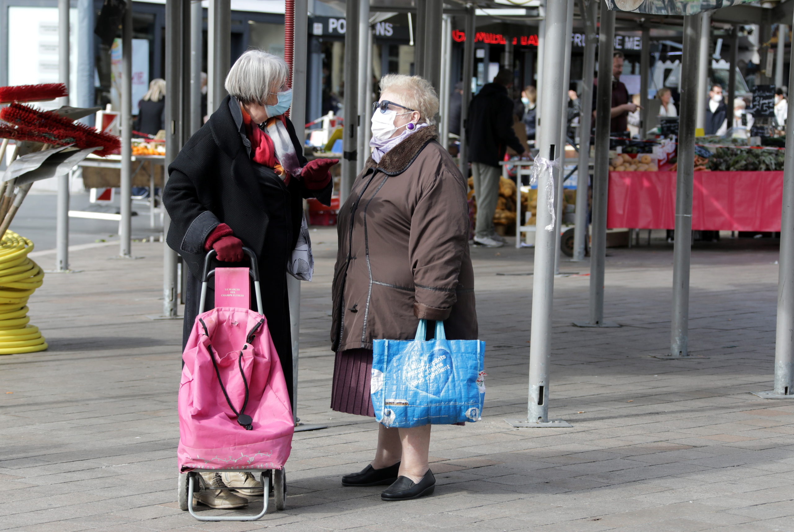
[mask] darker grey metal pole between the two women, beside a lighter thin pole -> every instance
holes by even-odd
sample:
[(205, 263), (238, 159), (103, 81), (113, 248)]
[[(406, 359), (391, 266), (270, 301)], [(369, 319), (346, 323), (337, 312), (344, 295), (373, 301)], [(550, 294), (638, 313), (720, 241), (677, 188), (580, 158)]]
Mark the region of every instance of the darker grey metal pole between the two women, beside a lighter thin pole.
[(345, 129), (342, 137), (342, 168), (341, 186), (339, 190), (339, 204), (343, 205), (350, 188), (353, 187), (353, 180), (357, 175), (357, 135), (356, 130), (359, 124), (358, 114), (358, 69), (351, 66), (358, 61), (358, 28), (357, 21), (360, 2), (350, 0), (347, 2), (345, 18), (348, 21), (345, 29), (345, 98), (344, 98), (344, 119)]

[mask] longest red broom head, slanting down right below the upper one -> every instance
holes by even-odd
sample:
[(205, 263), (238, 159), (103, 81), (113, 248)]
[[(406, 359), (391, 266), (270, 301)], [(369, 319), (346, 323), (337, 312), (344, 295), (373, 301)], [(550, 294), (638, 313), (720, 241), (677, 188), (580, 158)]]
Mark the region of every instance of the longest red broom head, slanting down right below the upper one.
[(52, 111), (40, 111), (33, 107), (12, 103), (0, 110), (0, 118), (24, 129), (33, 129), (52, 144), (75, 144), (79, 148), (102, 149), (94, 152), (98, 156), (110, 155), (121, 148), (121, 140), (114, 135), (98, 132), (96, 129), (79, 122), (71, 121)]

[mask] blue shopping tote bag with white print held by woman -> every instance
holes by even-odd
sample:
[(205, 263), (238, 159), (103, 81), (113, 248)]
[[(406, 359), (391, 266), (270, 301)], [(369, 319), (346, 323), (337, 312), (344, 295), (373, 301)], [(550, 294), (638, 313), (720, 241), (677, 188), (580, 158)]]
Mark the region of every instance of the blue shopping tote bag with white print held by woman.
[(372, 406), (388, 427), (452, 425), (480, 420), (485, 399), (485, 342), (447, 340), (436, 322), (425, 340), (419, 320), (414, 340), (372, 342)]

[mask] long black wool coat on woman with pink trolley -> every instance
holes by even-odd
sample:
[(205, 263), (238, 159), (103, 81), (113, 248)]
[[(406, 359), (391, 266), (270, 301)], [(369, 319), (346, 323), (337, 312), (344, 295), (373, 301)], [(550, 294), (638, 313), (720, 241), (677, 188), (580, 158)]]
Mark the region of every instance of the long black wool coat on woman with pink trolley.
[[(289, 120), (287, 130), (303, 166), (303, 144)], [(264, 315), (291, 394), (287, 259), (298, 240), (303, 198), (316, 197), (330, 205), (332, 185), (329, 183), (322, 191), (310, 191), (302, 179), (293, 178), (287, 186), (271, 168), (251, 160), (250, 148), (239, 103), (227, 96), (168, 166), (168, 183), (163, 191), (163, 203), (171, 217), (167, 241), (189, 268), (183, 347), (199, 314), (204, 241), (218, 224), (225, 223), (243, 245), (256, 253)], [(247, 265), (216, 261), (213, 267)], [(214, 306), (212, 288), (210, 282), (203, 310)], [(253, 290), (251, 305), (256, 310)]]

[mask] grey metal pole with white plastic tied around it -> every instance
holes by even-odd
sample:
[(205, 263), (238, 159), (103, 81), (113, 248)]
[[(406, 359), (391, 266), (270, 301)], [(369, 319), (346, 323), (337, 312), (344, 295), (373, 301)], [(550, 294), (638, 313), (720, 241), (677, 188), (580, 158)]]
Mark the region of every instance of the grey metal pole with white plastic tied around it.
[[(540, 156), (558, 159), (555, 143), (560, 139), (560, 114), (563, 112), (566, 40), (569, 2), (549, 2), (546, 9), (546, 48), (543, 73), (542, 125), (544, 143)], [(538, 220), (535, 235), (534, 276), (532, 282), (532, 324), (530, 326), (530, 383), (526, 420), (507, 420), (512, 426), (570, 426), (561, 420), (549, 421), (549, 356), (551, 354), (551, 315), (554, 291), (554, 222), (549, 194), (556, 188), (553, 172), (546, 167), (538, 178)], [(550, 226), (549, 229), (546, 229)]]

